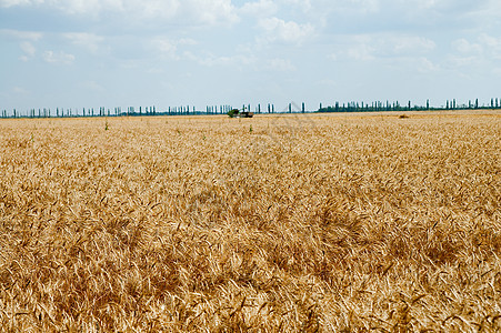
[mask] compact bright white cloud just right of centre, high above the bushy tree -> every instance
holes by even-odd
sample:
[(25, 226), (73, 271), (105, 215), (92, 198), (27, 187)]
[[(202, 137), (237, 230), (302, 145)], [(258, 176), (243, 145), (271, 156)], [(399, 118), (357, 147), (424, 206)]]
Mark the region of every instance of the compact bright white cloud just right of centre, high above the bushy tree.
[(300, 46), (314, 33), (310, 23), (299, 24), (294, 21), (285, 22), (278, 18), (260, 20), (259, 27), (264, 30), (268, 42), (283, 42)]

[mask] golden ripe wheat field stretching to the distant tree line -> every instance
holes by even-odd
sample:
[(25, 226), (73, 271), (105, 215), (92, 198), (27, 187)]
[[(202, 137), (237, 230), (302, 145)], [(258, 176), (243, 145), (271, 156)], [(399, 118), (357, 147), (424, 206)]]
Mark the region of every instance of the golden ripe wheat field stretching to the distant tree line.
[(0, 327), (499, 332), (489, 112), (2, 120)]

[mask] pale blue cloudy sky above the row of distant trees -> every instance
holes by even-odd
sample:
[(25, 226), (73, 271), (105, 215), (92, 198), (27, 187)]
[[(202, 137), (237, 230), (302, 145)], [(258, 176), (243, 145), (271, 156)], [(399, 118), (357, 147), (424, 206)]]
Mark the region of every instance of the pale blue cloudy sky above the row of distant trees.
[(9, 112), (489, 103), (501, 1), (0, 0), (0, 51)]

